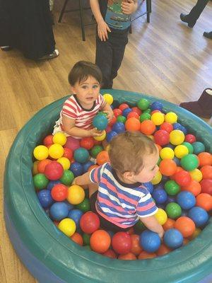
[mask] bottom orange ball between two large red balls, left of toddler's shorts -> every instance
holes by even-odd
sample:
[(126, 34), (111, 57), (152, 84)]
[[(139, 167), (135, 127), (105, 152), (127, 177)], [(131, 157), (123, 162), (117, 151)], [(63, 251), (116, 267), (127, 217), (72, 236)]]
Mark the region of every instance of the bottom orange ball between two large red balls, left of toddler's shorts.
[(111, 238), (105, 230), (96, 230), (90, 237), (90, 248), (96, 253), (105, 253), (110, 248)]

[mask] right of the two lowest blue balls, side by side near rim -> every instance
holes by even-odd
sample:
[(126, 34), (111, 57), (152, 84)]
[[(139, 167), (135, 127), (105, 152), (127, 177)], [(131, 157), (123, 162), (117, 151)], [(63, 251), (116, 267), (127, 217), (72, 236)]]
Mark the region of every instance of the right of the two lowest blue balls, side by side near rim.
[(168, 248), (179, 248), (183, 243), (182, 233), (177, 229), (169, 229), (165, 231), (163, 241)]

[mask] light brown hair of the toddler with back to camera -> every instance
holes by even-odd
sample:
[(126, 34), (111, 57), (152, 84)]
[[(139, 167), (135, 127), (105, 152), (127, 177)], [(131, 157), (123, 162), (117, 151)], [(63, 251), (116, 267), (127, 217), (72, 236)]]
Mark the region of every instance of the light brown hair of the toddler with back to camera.
[(138, 174), (143, 168), (143, 155), (157, 151), (154, 142), (140, 132), (126, 131), (110, 141), (109, 157), (112, 168), (123, 174), (126, 171)]

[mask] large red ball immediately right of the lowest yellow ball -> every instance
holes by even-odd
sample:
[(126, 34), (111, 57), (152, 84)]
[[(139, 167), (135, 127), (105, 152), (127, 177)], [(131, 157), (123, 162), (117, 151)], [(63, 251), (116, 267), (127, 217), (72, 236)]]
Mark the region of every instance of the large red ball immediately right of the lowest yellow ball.
[(100, 219), (94, 212), (86, 212), (81, 216), (80, 226), (84, 233), (91, 234), (100, 228)]

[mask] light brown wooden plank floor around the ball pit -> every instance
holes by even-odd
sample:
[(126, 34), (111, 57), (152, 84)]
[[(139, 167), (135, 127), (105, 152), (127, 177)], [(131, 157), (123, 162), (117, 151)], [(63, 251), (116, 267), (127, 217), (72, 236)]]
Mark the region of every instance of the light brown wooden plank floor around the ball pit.
[[(21, 127), (35, 112), (69, 93), (67, 74), (78, 60), (95, 60), (95, 25), (81, 40), (77, 13), (67, 13), (57, 23), (61, 2), (55, 0), (54, 35), (60, 55), (47, 62), (33, 62), (20, 52), (0, 51), (0, 282), (35, 283), (11, 246), (3, 219), (3, 172), (8, 150)], [(196, 100), (212, 85), (212, 40), (202, 36), (212, 30), (212, 2), (193, 29), (179, 21), (192, 0), (153, 0), (151, 23), (133, 23), (124, 61), (114, 88), (148, 93), (172, 103)], [(90, 12), (86, 16), (90, 21)], [(47, 282), (49, 283), (49, 282)]]

